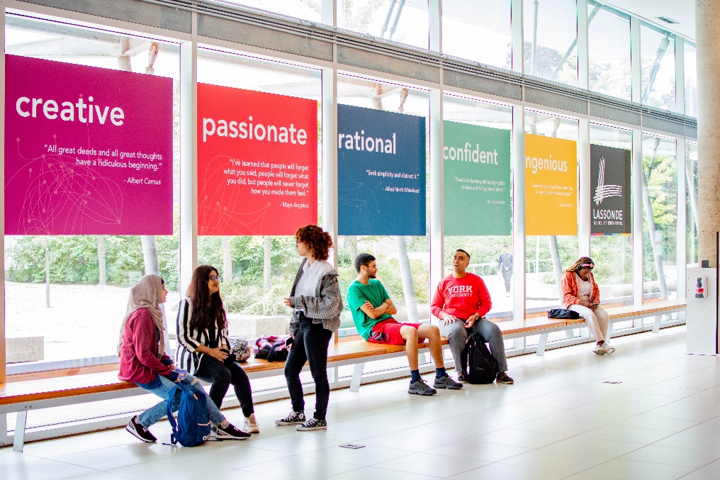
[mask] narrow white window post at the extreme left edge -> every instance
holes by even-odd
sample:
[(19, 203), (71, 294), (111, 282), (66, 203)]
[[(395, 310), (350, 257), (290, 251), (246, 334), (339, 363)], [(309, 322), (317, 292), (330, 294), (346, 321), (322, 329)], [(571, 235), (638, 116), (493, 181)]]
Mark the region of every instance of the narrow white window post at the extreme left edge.
[[(5, 2), (0, 0), (0, 105), (5, 105)], [(5, 145), (5, 115), (0, 115), (0, 145)], [(0, 165), (5, 165), (5, 148), (0, 148)], [(0, 180), (5, 185), (5, 169), (0, 169)], [(3, 301), (0, 302), (0, 384), (5, 383), (5, 197), (0, 195), (0, 293)], [(0, 430), (7, 428), (6, 418), (0, 415)]]

